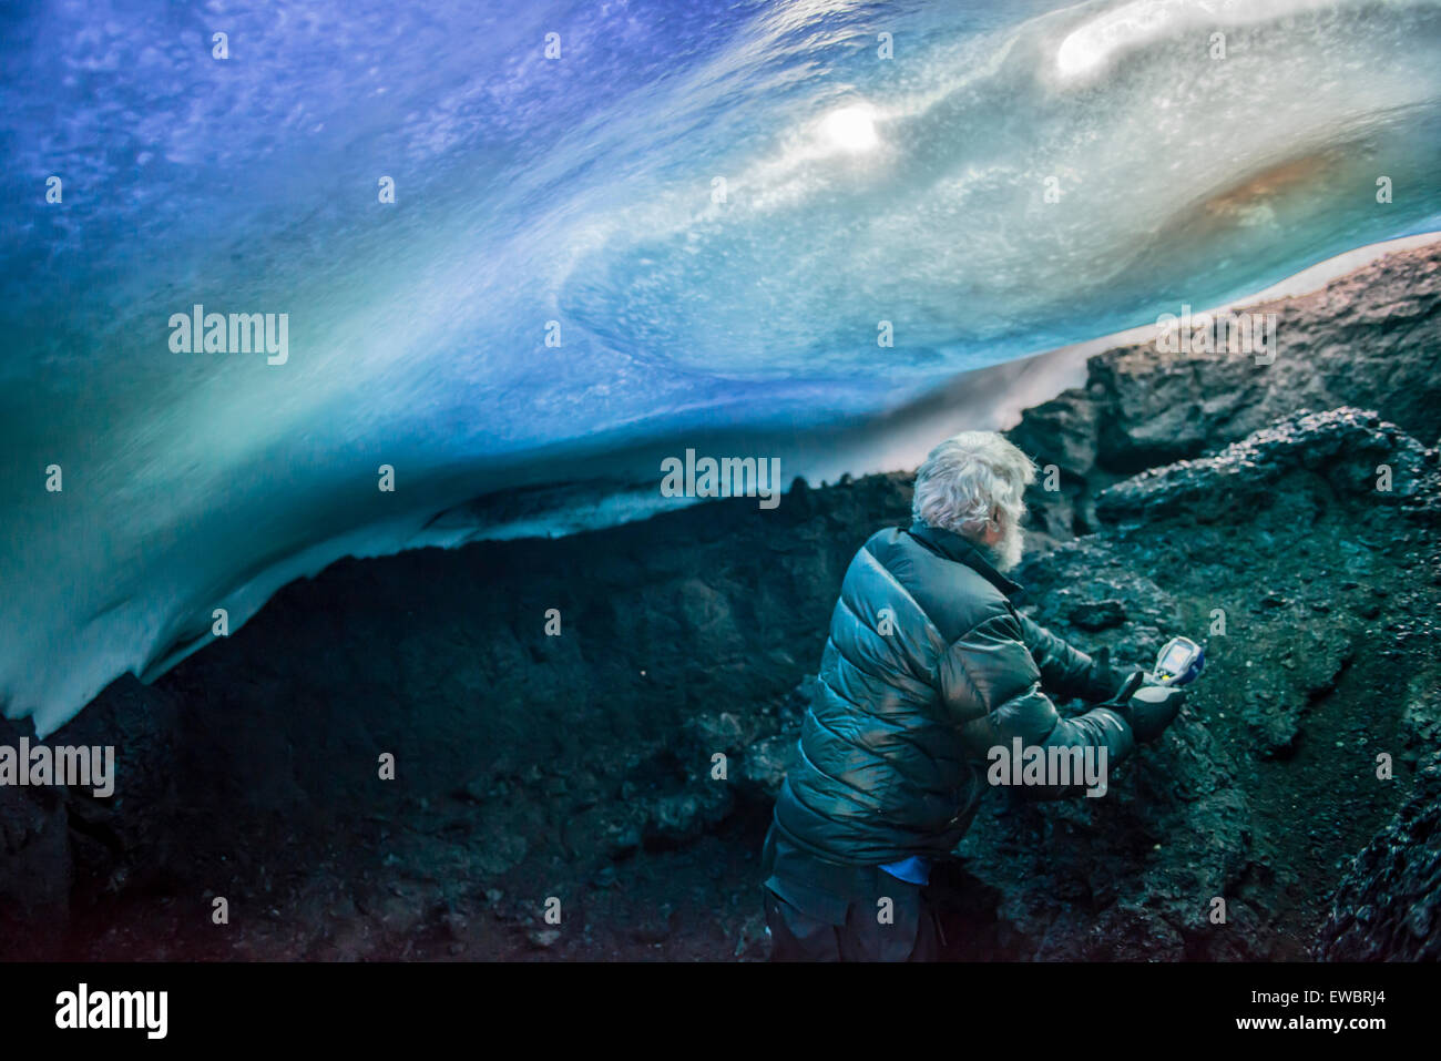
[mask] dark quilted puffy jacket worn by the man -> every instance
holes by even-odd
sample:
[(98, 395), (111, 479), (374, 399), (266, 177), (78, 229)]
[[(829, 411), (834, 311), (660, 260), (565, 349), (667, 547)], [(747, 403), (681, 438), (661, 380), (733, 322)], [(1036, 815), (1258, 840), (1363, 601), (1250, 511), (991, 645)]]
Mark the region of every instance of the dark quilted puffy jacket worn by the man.
[(775, 804), (784, 840), (844, 864), (945, 855), (989, 787), (991, 747), (1105, 747), (1108, 765), (1133, 751), (1117, 712), (1056, 712), (1043, 689), (1105, 701), (1120, 680), (1016, 611), (1017, 590), (964, 538), (921, 522), (862, 546)]

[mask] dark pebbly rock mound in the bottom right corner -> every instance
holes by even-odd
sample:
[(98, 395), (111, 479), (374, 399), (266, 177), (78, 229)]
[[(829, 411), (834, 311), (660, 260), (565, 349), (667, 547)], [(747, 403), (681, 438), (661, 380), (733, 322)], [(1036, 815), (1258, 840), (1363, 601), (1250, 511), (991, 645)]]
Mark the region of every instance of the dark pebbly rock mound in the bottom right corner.
[(1329, 962), (1441, 960), (1441, 757), (1347, 869), (1319, 954)]

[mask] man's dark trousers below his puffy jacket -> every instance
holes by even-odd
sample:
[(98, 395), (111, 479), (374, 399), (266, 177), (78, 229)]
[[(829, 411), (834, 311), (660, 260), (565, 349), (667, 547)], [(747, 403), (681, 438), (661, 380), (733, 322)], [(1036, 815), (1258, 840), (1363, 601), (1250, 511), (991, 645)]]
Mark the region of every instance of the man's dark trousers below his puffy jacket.
[[(772, 830), (774, 833), (774, 830)], [(777, 851), (780, 856), (777, 858)], [(879, 866), (836, 866), (767, 836), (772, 962), (935, 962), (942, 938), (921, 885)]]

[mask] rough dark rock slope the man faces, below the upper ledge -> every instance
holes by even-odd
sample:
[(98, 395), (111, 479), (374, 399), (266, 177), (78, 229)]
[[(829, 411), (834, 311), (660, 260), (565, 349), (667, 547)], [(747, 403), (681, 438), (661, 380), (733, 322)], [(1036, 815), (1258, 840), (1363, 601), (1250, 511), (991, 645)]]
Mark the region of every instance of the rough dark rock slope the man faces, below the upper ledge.
[[(1429, 647), (1340, 604), (1342, 585), (1399, 580), (1406, 600), (1388, 613), (1422, 630), (1434, 618), (1434, 584), (1408, 584), (1435, 562), (1434, 456), (1370, 414), (1293, 417), (1114, 486), (1098, 510), (1118, 526), (1022, 568), (1025, 607), (1068, 639), (1148, 666), (1189, 633), (1209, 662), (1182, 718), (1105, 797), (983, 806), (960, 855), (987, 923), (955, 933), (971, 940), (957, 956), (1308, 954), (1317, 884), (1395, 806), (1396, 786), (1368, 768), (1373, 748), (1434, 718), (1417, 708), (1441, 672)], [(1404, 484), (1389, 497), (1373, 489), (1382, 460)], [(1124, 621), (1089, 629), (1101, 601)], [(1417, 695), (1398, 695), (1398, 672)]]

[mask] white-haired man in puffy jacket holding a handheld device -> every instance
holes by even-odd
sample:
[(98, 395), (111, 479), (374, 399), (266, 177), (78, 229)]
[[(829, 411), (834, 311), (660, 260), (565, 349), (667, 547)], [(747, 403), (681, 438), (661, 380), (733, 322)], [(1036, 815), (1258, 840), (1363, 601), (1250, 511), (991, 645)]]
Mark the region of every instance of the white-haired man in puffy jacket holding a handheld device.
[[(1001, 435), (948, 438), (916, 473), (912, 526), (880, 530), (850, 562), (765, 838), (774, 960), (937, 957), (922, 887), (974, 817), (987, 761), (1019, 738), (1053, 760), (1104, 751), (1111, 767), (1180, 709), (1179, 689), (1118, 698), (1127, 676), (1105, 654), (1012, 605), (1020, 587), (1003, 572), (1020, 561), (1035, 477)], [(1046, 692), (1107, 703), (1066, 719)], [(1079, 791), (1045, 781), (1026, 794)]]

